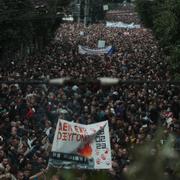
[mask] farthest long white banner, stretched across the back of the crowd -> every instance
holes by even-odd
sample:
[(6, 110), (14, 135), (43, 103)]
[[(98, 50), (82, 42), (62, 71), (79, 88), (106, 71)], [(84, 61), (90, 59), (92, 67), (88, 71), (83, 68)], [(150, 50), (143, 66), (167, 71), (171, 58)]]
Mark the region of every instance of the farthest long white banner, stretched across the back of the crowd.
[(127, 28), (127, 29), (138, 29), (141, 26), (139, 24), (126, 24), (123, 22), (106, 22), (106, 27), (112, 27), (112, 28)]

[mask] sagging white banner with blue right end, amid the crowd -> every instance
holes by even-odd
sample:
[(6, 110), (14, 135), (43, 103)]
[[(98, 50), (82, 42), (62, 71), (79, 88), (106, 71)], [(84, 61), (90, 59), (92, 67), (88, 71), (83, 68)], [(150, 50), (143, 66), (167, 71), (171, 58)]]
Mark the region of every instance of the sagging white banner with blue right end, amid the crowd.
[(79, 54), (88, 54), (88, 55), (103, 55), (103, 54), (108, 54), (112, 46), (107, 46), (105, 48), (98, 48), (98, 49), (90, 49), (84, 46), (79, 45)]

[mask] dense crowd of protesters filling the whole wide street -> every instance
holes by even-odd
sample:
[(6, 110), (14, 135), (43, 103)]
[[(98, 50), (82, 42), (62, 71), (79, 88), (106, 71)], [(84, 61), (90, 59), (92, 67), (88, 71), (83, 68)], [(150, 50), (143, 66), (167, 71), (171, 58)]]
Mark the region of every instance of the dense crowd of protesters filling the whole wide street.
[[(131, 21), (132, 16), (125, 17), (129, 18), (126, 22)], [(98, 40), (112, 45), (114, 53), (79, 54), (78, 45), (97, 48)], [(170, 66), (151, 30), (107, 28), (103, 23), (88, 27), (61, 24), (44, 52), (0, 67), (3, 81), (66, 76), (82, 80), (171, 80)], [(46, 169), (60, 116), (82, 124), (109, 121), (113, 157), (110, 174), (118, 179), (131, 162), (131, 149), (150, 141), (159, 122), (164, 133), (175, 134), (178, 141), (179, 112), (179, 87), (170, 83), (112, 87), (0, 84), (0, 177), (29, 179)]]

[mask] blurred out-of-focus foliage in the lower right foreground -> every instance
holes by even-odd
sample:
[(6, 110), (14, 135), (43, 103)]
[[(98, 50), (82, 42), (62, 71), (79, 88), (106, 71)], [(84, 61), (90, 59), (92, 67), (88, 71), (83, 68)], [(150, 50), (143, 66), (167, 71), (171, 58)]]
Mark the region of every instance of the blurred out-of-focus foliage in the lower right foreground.
[(180, 156), (174, 148), (176, 138), (172, 134), (165, 138), (164, 132), (159, 129), (152, 141), (136, 149), (134, 161), (127, 171), (128, 180), (179, 179)]

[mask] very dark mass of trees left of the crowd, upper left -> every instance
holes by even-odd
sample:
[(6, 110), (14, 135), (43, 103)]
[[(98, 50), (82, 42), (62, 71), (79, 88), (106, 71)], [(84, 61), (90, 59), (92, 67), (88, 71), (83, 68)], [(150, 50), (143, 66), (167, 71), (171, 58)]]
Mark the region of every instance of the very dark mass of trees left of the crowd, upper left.
[(37, 8), (32, 0), (0, 0), (0, 58), (23, 58), (29, 52), (42, 50), (61, 20), (57, 7), (69, 3), (48, 0)]

